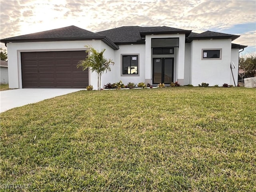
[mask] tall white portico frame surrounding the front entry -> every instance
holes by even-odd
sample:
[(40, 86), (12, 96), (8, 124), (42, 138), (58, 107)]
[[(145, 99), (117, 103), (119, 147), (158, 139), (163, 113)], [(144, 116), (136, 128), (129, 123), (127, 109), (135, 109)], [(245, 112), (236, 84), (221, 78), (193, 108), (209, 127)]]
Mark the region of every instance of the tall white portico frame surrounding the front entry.
[(174, 81), (179, 81), (181, 85), (184, 85), (185, 34), (146, 35), (145, 37), (145, 79), (151, 79), (151, 82), (152, 82), (152, 58), (151, 58), (151, 39), (152, 38), (179, 38), (179, 48), (175, 48), (174, 50), (174, 55), (175, 55)]

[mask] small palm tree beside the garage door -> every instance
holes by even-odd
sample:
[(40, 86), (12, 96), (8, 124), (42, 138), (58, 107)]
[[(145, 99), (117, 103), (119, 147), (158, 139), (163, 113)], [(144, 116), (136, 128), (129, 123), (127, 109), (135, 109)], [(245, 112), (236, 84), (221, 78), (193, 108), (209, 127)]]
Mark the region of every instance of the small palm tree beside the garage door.
[(102, 49), (101, 52), (95, 50), (92, 46), (85, 46), (88, 48), (85, 52), (88, 53), (88, 56), (85, 60), (79, 61), (77, 68), (82, 67), (82, 70), (90, 69), (91, 72), (96, 72), (98, 78), (98, 90), (101, 87), (101, 76), (104, 71), (110, 71), (110, 65), (113, 64), (112, 60), (106, 59), (103, 56), (103, 53), (106, 49)]

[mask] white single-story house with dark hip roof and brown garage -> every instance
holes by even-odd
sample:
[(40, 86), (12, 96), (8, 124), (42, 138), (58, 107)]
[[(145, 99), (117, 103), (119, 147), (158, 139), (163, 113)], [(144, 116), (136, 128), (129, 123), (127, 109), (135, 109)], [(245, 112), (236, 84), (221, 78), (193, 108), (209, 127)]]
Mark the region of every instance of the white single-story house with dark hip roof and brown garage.
[(239, 50), (232, 44), (238, 35), (206, 31), (194, 33), (171, 27), (124, 26), (90, 32), (76, 26), (2, 39), (8, 49), (10, 88), (97, 88), (95, 73), (76, 68), (86, 58), (84, 45), (106, 49), (114, 61), (111, 72), (102, 76), (102, 87), (122, 80), (153, 85), (210, 86), (238, 81)]

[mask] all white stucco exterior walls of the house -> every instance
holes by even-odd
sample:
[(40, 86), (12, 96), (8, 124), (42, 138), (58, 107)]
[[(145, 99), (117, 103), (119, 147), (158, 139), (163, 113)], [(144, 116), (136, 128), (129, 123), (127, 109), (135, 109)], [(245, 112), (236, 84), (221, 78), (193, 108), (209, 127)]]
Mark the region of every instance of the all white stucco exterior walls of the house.
[[(20, 52), (32, 51), (75, 51), (86, 50), (84, 45), (92, 45), (96, 50), (106, 49), (104, 56), (112, 59), (114, 66), (111, 71), (102, 76), (101, 88), (104, 84), (119, 82), (149, 82), (152, 84), (152, 51), (151, 38), (179, 38), (179, 48), (174, 48), (174, 81), (179, 81), (182, 85), (193, 84), (198, 86), (202, 82), (209, 83), (210, 86), (224, 83), (234, 84), (230, 61), (233, 61), (236, 69), (233, 70), (237, 83), (238, 78), (238, 49), (231, 50), (231, 40), (193, 40), (190, 44), (185, 44), (184, 34), (173, 35), (152, 35), (146, 36), (146, 42), (139, 45), (119, 45), (119, 50), (113, 50), (100, 40), (91, 41), (69, 41), (69, 42), (29, 42), (29, 43), (8, 43), (8, 74), (9, 87), (22, 88), (21, 58)], [(221, 60), (202, 60), (202, 49), (222, 49)], [(121, 71), (121, 55), (139, 55), (139, 75), (123, 76)], [(160, 55), (161, 56), (161, 55)], [(157, 56), (159, 57), (159, 55)], [(2, 74), (1, 74), (2, 76)], [(89, 73), (89, 84), (97, 89), (97, 77), (95, 73)]]

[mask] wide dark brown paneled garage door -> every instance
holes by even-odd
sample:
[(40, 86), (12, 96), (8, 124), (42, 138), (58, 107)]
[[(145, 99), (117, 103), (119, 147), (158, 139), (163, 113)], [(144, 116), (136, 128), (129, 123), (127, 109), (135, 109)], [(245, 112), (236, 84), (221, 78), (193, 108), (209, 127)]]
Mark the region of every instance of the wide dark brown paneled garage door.
[(85, 51), (22, 52), (23, 88), (85, 88), (88, 70), (76, 68)]

